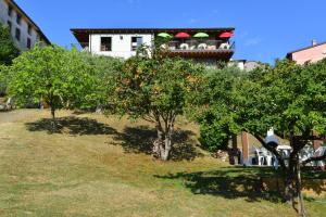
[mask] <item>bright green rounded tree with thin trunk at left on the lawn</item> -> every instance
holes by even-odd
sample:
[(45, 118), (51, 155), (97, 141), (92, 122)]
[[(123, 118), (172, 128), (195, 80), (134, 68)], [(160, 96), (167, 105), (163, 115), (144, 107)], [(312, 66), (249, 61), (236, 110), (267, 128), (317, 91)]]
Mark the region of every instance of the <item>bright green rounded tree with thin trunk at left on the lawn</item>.
[(46, 102), (53, 126), (57, 110), (87, 106), (85, 99), (91, 93), (93, 79), (76, 49), (36, 46), (15, 59), (10, 72), (10, 95), (17, 104)]

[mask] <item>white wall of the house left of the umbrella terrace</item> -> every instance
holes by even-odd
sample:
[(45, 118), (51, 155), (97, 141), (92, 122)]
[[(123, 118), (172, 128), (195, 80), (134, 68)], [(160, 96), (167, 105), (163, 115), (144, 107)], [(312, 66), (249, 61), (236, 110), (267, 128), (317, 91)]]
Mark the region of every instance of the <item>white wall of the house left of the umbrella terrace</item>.
[[(101, 51), (101, 37), (112, 38), (112, 51)], [(131, 37), (142, 37), (143, 44), (152, 44), (151, 34), (95, 34), (89, 36), (89, 51), (98, 55), (128, 59), (136, 55), (136, 52), (131, 51)]]

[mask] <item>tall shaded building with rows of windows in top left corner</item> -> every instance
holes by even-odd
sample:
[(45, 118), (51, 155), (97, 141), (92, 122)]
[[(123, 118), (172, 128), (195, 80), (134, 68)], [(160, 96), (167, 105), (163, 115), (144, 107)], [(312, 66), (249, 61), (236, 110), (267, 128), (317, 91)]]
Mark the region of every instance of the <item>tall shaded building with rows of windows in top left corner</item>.
[(9, 26), (16, 47), (22, 51), (33, 48), (38, 41), (50, 44), (41, 29), (13, 0), (0, 0), (0, 23)]

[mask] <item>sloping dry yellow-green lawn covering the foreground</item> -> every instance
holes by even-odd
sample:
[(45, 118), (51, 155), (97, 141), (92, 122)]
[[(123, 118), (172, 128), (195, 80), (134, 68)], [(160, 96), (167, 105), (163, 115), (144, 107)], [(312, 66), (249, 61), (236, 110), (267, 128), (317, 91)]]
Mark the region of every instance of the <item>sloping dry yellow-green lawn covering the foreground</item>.
[[(13, 116), (13, 117), (10, 117)], [(16, 118), (15, 118), (16, 116)], [(173, 161), (150, 155), (151, 125), (61, 111), (0, 113), (1, 216), (294, 216), (252, 178), (271, 170), (228, 167), (199, 150), (198, 129), (179, 120)], [(325, 216), (326, 199), (306, 201)]]

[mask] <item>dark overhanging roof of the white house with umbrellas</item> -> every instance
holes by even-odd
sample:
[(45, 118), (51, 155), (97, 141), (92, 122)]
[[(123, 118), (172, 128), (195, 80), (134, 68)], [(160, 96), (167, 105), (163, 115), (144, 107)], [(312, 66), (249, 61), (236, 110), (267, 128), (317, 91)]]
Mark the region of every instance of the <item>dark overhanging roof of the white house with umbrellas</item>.
[(234, 31), (234, 27), (212, 27), (212, 28), (72, 28), (71, 31), (77, 38), (77, 40), (83, 42), (88, 42), (90, 34), (159, 34), (168, 33), (177, 34), (179, 31), (186, 31), (189, 34), (196, 34), (199, 31), (218, 34), (224, 31)]

